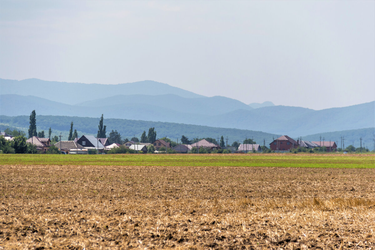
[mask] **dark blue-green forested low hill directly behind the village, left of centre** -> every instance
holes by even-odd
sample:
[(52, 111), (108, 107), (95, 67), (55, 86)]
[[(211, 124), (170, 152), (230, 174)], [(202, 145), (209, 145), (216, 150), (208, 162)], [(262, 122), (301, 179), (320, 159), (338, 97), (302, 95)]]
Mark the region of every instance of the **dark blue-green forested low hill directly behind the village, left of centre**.
[[(96, 135), (98, 133), (99, 118), (89, 117), (69, 117), (69, 116), (53, 116), (53, 115), (37, 115), (36, 125), (37, 131), (44, 130), (48, 131), (49, 127), (52, 129), (52, 136), (58, 135), (62, 132), (62, 140), (68, 138), (70, 129), (70, 123), (73, 121), (74, 129), (77, 129), (78, 135), (83, 134)], [(0, 130), (6, 128), (20, 129), (27, 133), (29, 126), (29, 116), (20, 115), (15, 117), (9, 117), (0, 115)], [(228, 144), (232, 144), (234, 141), (243, 141), (247, 138), (254, 138), (254, 140), (263, 145), (263, 139), (266, 140), (266, 145), (272, 142), (273, 138), (277, 138), (280, 135), (271, 133), (264, 133), (253, 130), (243, 129), (226, 129), (220, 127), (208, 127), (190, 124), (179, 124), (179, 123), (167, 123), (167, 122), (154, 122), (154, 121), (139, 121), (139, 120), (124, 120), (124, 119), (104, 119), (104, 125), (107, 126), (107, 136), (111, 130), (117, 130), (121, 137), (132, 138), (134, 135), (138, 138), (141, 137), (143, 131), (148, 132), (150, 127), (154, 127), (157, 133), (157, 138), (167, 136), (173, 141), (177, 138), (180, 140), (181, 136), (187, 136), (189, 139), (192, 138), (216, 138), (217, 136), (224, 136), (225, 139), (228, 137)]]

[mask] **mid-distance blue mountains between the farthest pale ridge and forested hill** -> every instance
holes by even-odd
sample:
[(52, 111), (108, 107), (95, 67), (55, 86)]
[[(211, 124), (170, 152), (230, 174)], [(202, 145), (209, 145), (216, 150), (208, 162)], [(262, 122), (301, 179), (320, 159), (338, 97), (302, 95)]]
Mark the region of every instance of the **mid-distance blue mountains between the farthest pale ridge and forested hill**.
[[(175, 98), (178, 101), (168, 102), (168, 97)], [(194, 101), (191, 102), (190, 99), (174, 95), (166, 95), (162, 96), (162, 98), (153, 96), (149, 103), (142, 102), (142, 99), (137, 102), (137, 96), (129, 96), (129, 99), (127, 98), (127, 96), (118, 96), (118, 100), (116, 98), (113, 99), (115, 104), (109, 98), (105, 102), (86, 102), (81, 103), (81, 105), (87, 106), (77, 106), (52, 102), (34, 96), (1, 95), (0, 106), (1, 115), (8, 116), (30, 115), (33, 109), (39, 115), (100, 117), (101, 114), (104, 114), (105, 118), (127, 118), (130, 120), (256, 130), (292, 137), (375, 126), (375, 102), (316, 111), (289, 106), (237, 109), (242, 104), (226, 97), (223, 97), (223, 99), (221, 97), (199, 97), (192, 99)], [(156, 100), (161, 98), (162, 102), (152, 104), (154, 102), (153, 98)], [(223, 108), (210, 105), (217, 98), (220, 101), (233, 102), (233, 105), (224, 104)], [(128, 102), (124, 104), (116, 103), (122, 102), (123, 99)], [(204, 105), (204, 102), (198, 102), (204, 100), (209, 101), (207, 105)], [(186, 103), (195, 105), (187, 108)], [(219, 111), (223, 109), (225, 113), (220, 113), (215, 108), (219, 109)]]

